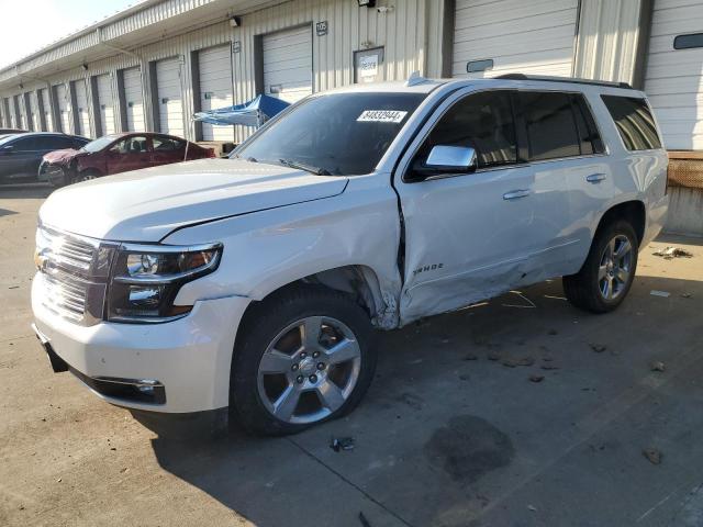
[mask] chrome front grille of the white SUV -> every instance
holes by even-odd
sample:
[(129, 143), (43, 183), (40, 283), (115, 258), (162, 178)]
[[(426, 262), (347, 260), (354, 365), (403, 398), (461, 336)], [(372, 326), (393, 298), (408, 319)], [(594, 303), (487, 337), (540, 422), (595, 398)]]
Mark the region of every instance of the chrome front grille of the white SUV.
[[(99, 242), (40, 226), (36, 232), (35, 261), (44, 285), (42, 304), (57, 315), (77, 324), (94, 323), (90, 298), (101, 305), (104, 284), (91, 281), (91, 269)], [(91, 291), (93, 292), (91, 294)], [(96, 294), (97, 293), (97, 294)]]

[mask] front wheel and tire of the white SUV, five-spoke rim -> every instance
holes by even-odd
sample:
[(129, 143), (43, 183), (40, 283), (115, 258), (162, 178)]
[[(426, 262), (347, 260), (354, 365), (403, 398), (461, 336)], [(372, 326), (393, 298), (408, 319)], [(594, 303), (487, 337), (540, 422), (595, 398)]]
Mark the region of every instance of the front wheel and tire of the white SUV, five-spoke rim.
[(373, 379), (372, 340), (368, 313), (347, 294), (316, 285), (274, 293), (250, 309), (239, 329), (231, 414), (267, 436), (348, 414)]

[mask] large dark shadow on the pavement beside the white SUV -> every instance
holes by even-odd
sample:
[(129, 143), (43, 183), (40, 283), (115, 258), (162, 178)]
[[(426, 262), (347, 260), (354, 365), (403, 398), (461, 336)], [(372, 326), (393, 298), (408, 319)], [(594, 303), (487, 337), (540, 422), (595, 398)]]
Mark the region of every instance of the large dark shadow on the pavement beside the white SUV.
[[(382, 335), (346, 418), (289, 438), (157, 428), (154, 452), (259, 526), (632, 525), (673, 493), (641, 523), (661, 525), (703, 466), (702, 311), (699, 281), (637, 277), (607, 315), (546, 282)], [(345, 436), (354, 450), (330, 448)]]

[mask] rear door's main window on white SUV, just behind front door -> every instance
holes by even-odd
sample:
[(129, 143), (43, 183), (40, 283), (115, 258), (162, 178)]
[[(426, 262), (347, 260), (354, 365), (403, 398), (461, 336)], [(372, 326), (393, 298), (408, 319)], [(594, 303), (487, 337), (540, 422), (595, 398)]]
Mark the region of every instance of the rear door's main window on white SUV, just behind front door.
[(569, 94), (523, 91), (520, 92), (520, 101), (527, 127), (531, 160), (581, 155), (582, 138), (579, 137)]

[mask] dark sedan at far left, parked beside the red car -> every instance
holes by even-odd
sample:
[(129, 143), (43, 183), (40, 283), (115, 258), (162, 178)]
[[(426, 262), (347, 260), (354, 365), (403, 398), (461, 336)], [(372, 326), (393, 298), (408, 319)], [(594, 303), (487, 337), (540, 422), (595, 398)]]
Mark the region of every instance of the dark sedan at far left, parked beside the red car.
[(59, 148), (80, 148), (89, 141), (51, 132), (8, 135), (0, 139), (0, 182), (36, 180), (45, 154)]

